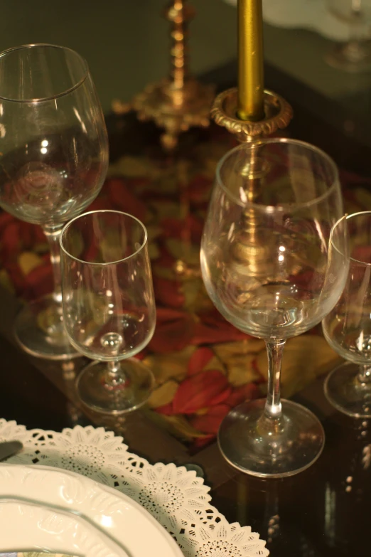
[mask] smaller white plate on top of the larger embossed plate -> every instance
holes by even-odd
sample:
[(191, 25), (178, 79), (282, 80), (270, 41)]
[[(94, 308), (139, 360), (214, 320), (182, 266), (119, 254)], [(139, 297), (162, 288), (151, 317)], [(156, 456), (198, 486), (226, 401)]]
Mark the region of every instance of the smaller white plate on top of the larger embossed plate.
[(0, 549), (89, 557), (128, 557), (95, 526), (71, 513), (21, 501), (0, 501)]

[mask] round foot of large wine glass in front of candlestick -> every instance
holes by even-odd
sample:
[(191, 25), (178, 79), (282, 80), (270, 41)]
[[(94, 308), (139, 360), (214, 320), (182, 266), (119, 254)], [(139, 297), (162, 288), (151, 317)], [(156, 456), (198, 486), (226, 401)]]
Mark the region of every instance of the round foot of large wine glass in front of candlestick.
[(297, 474), (318, 459), (325, 442), (321, 422), (291, 400), (281, 403), (276, 423), (264, 417), (265, 399), (243, 403), (227, 414), (218, 442), (230, 465), (252, 476), (274, 478)]

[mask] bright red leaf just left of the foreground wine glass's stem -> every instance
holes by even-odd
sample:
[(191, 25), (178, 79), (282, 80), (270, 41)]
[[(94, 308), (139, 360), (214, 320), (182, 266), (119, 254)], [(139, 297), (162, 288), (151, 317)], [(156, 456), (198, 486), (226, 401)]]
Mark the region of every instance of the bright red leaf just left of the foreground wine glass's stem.
[(222, 403), (232, 389), (221, 371), (208, 370), (186, 378), (173, 398), (176, 414), (193, 414), (201, 408)]

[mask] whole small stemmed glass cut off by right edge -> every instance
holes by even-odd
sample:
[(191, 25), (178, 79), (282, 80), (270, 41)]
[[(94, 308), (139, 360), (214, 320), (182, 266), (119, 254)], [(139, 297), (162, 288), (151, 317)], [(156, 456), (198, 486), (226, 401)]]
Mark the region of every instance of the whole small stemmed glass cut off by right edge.
[[(328, 344), (348, 360), (326, 378), (331, 404), (355, 418), (371, 417), (371, 211), (347, 217), (350, 265), (343, 295), (323, 319)], [(335, 245), (346, 258), (342, 246)]]

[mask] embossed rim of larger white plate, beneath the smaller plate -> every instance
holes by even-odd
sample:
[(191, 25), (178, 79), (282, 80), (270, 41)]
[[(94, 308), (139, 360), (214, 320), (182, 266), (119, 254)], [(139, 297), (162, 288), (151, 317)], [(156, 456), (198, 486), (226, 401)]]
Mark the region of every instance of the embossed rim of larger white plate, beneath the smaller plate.
[[(183, 557), (168, 532), (138, 503), (75, 472), (48, 466), (0, 464), (0, 499), (19, 499), (80, 516), (94, 525), (97, 534), (109, 536), (130, 557)], [(15, 522), (15, 532), (17, 528)], [(13, 549), (16, 551), (17, 547)], [(0, 551), (5, 551), (1, 535)], [(81, 554), (87, 555), (85, 551), (80, 551)]]

